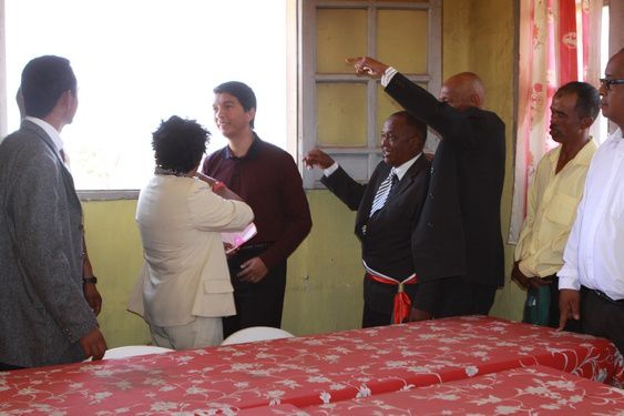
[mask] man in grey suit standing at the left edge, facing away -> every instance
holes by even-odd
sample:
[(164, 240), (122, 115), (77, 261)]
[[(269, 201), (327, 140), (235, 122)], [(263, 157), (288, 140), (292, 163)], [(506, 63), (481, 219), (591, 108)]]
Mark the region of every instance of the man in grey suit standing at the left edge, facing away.
[(106, 351), (84, 298), (82, 207), (59, 135), (78, 108), (70, 62), (33, 59), (21, 89), (27, 116), (0, 144), (0, 371)]

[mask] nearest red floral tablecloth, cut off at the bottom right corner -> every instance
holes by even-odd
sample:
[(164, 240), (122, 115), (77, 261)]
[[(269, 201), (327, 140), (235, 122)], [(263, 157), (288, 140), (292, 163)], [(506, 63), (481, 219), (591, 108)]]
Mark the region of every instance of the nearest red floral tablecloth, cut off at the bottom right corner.
[[(545, 366), (260, 415), (624, 415), (624, 390)], [(241, 416), (252, 416), (242, 412)]]

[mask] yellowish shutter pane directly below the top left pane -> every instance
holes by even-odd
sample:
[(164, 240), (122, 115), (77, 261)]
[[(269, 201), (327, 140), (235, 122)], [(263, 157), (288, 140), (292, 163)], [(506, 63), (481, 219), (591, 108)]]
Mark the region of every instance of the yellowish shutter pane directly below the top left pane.
[(319, 83), (317, 143), (321, 146), (366, 146), (366, 84)]

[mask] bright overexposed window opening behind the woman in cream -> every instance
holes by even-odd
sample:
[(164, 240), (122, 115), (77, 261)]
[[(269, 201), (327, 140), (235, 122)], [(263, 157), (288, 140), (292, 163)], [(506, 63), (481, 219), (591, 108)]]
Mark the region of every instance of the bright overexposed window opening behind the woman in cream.
[(7, 131), (19, 126), (13, 98), (24, 64), (42, 54), (70, 59), (80, 105), (62, 138), (79, 190), (142, 187), (153, 172), (151, 133), (173, 114), (211, 130), (208, 152), (225, 145), (212, 120), (212, 90), (229, 80), (256, 92), (260, 138), (290, 145), (285, 80), (296, 62), (287, 59), (294, 0), (3, 4)]

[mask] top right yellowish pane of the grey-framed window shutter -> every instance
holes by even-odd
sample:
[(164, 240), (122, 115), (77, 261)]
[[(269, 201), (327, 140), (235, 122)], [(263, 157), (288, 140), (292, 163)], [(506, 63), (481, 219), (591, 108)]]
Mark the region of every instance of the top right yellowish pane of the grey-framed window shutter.
[(427, 72), (427, 11), (379, 10), (377, 55), (403, 73)]

